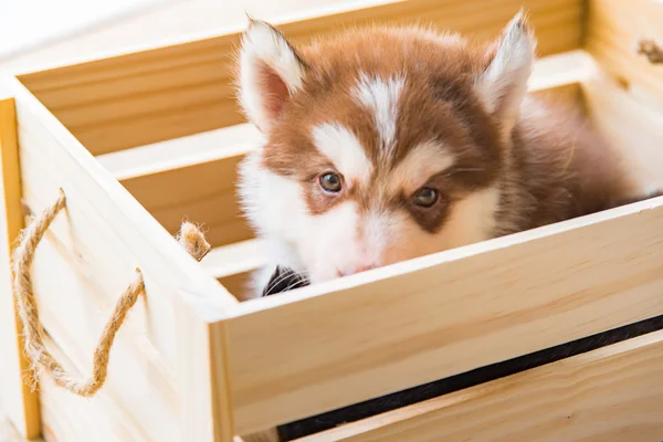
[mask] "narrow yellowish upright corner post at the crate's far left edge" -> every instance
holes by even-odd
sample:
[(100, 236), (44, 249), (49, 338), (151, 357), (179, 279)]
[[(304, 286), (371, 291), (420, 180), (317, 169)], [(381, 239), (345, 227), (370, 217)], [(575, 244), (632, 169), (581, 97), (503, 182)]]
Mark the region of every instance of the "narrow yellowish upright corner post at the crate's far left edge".
[(23, 357), (11, 285), (11, 253), (23, 228), (13, 99), (0, 101), (0, 413), (8, 413), (24, 438), (36, 438), (41, 433), (39, 394), (23, 382), (28, 362)]

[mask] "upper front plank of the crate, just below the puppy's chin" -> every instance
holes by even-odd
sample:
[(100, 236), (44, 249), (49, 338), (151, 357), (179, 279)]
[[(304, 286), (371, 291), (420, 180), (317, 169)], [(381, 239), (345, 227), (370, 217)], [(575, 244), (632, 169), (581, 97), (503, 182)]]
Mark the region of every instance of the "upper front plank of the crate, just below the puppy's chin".
[(662, 225), (657, 198), (242, 303), (228, 319), (235, 429), (661, 315)]

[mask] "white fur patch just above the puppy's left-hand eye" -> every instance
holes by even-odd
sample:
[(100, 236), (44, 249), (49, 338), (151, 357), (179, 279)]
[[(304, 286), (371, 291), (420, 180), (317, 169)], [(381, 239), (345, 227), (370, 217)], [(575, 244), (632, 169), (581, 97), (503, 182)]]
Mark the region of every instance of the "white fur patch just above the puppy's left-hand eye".
[(347, 127), (325, 123), (313, 128), (313, 139), (317, 149), (329, 158), (346, 180), (366, 181), (372, 171), (372, 164), (359, 139)]

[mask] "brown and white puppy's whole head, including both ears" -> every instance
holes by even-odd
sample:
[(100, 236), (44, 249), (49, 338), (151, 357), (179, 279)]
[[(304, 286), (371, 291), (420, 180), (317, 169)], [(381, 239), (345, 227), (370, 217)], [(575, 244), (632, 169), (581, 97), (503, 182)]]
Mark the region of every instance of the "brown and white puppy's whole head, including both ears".
[(240, 193), (276, 259), (319, 282), (490, 238), (534, 49), (520, 14), (490, 45), (372, 28), (296, 48), (251, 20), (239, 97), (265, 143)]

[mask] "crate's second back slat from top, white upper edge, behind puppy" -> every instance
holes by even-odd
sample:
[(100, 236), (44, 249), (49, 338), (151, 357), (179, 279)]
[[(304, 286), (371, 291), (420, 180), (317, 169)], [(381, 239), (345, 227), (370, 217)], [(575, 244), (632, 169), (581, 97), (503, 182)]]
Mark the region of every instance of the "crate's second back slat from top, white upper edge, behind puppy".
[[(586, 55), (575, 51), (539, 60), (530, 92), (578, 105)], [(236, 197), (236, 168), (261, 141), (253, 126), (241, 125), (98, 158), (170, 233), (187, 218), (203, 224), (213, 246), (222, 246), (253, 238)]]

